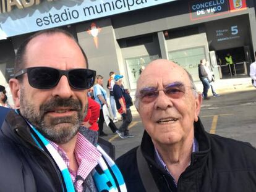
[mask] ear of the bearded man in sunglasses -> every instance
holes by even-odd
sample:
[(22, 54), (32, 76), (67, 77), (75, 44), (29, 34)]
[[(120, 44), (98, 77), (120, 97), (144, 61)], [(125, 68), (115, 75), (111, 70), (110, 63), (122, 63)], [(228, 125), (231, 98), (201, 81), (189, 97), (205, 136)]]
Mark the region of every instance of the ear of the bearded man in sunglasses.
[(11, 80), (9, 80), (9, 86), (12, 93), (12, 99), (14, 100), (14, 106), (15, 108), (19, 108), (20, 107), (20, 81), (15, 78), (11, 78)]

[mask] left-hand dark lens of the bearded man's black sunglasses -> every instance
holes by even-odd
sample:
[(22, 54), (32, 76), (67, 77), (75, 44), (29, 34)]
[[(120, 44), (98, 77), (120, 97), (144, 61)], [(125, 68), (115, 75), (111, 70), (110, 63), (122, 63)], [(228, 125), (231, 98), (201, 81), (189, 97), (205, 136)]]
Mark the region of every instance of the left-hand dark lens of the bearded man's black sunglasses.
[(28, 81), (33, 88), (53, 88), (59, 80), (59, 71), (47, 67), (35, 67), (28, 69)]

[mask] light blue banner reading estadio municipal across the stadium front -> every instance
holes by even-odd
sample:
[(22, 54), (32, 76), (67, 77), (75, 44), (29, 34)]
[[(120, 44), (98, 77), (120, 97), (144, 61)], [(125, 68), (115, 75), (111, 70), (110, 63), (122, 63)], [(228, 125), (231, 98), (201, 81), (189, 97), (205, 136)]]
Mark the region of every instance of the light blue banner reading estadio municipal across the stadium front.
[(176, 0), (0, 0), (0, 40)]

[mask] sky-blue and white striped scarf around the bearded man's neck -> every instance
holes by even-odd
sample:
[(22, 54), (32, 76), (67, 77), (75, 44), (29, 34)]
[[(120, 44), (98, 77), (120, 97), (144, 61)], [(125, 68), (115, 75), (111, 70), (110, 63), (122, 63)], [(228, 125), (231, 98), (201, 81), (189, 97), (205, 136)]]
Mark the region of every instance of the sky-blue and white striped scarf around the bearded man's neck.
[[(72, 178), (70, 177), (67, 165), (59, 155), (58, 151), (54, 149), (51, 143), (49, 143), (49, 141), (46, 140), (46, 138), (41, 135), (41, 133), (36, 130), (33, 125), (31, 125), (29, 122), (28, 125), (30, 125), (30, 133), (36, 145), (48, 153), (58, 165), (62, 175), (62, 191), (75, 192), (74, 184), (72, 182)], [(126, 184), (124, 183), (122, 174), (114, 161), (99, 145), (97, 145), (96, 148), (101, 152), (102, 155), (98, 160), (98, 165), (96, 165), (92, 173), (93, 180), (98, 191), (126, 192)]]

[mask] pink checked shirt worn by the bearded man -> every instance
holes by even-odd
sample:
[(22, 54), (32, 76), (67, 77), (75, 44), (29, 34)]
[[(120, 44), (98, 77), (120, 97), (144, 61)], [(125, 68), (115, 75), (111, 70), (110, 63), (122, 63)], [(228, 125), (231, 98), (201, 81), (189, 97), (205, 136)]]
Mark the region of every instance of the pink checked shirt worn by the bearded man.
[[(49, 141), (49, 143), (51, 143), (54, 149), (56, 149), (59, 152), (59, 155), (66, 163), (73, 183), (75, 182), (75, 177), (77, 175), (80, 175), (80, 177), (82, 177), (83, 180), (85, 180), (89, 173), (96, 167), (96, 165), (98, 164), (98, 159), (100, 159), (101, 157), (101, 153), (95, 148), (95, 146), (93, 146), (93, 144), (90, 143), (90, 141), (88, 141), (83, 135), (81, 135), (81, 133), (78, 133), (74, 154), (75, 159), (77, 160), (77, 164), (79, 165), (79, 169), (77, 170), (77, 172), (74, 172), (69, 167), (70, 162), (66, 152), (53, 141)], [(82, 184), (82, 180), (78, 180), (75, 183), (75, 188), (78, 192), (83, 191)]]

